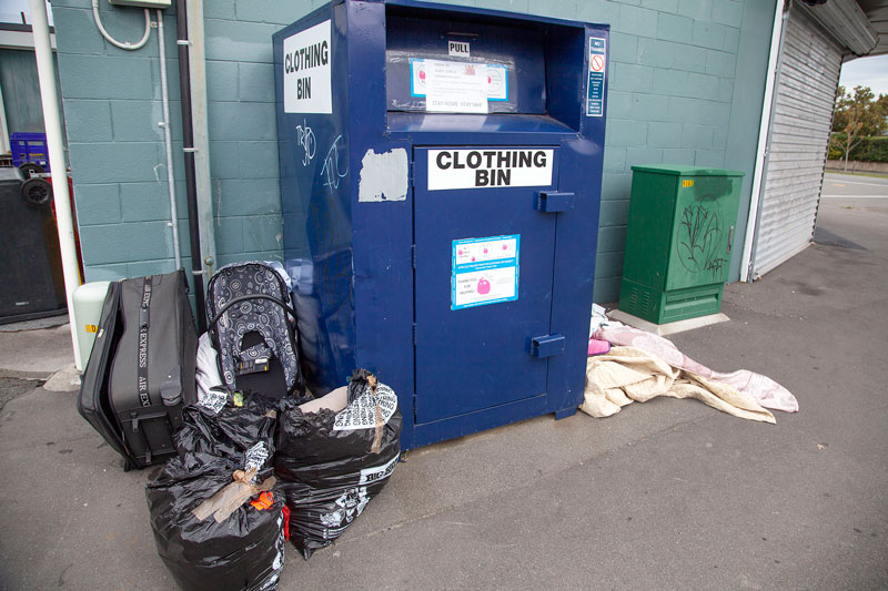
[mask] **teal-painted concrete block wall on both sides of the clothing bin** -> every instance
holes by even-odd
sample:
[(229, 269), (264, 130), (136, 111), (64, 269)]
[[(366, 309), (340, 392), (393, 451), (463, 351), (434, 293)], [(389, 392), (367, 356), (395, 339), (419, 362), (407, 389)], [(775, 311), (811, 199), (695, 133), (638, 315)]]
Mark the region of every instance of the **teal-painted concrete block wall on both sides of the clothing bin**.
[[(321, 0), (205, 0), (211, 174), (220, 264), (280, 258), (281, 214), (271, 34)], [(612, 26), (609, 95), (595, 281), (614, 302), (625, 249), (630, 166), (695, 164), (751, 177), (775, 0), (464, 0)], [(141, 10), (101, 3), (119, 39), (141, 35)], [(53, 0), (60, 78), (87, 279), (172, 268), (157, 38), (123, 52), (99, 35), (89, 0)], [(173, 129), (179, 99), (172, 10), (164, 13)], [(176, 147), (181, 150), (181, 141)], [(179, 217), (184, 184), (176, 159)], [(745, 226), (750, 187), (740, 197)], [(188, 233), (182, 226), (182, 251)], [(735, 245), (743, 244), (737, 232)], [(740, 248), (735, 248), (739, 253)], [(189, 262), (185, 261), (189, 265)], [(737, 278), (735, 261), (731, 279)]]

